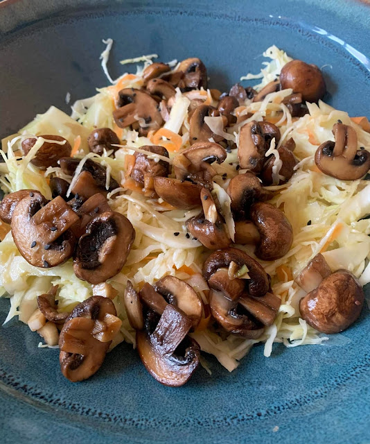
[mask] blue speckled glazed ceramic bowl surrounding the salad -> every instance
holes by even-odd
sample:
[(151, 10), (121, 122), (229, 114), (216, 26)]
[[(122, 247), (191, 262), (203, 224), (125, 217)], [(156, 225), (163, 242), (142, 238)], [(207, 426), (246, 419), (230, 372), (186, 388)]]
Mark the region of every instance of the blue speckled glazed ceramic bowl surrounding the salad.
[[(324, 31), (325, 30), (325, 31)], [(328, 102), (369, 114), (370, 9), (344, 0), (6, 1), (0, 3), (0, 135), (53, 104), (106, 84), (98, 56), (112, 37), (118, 60), (158, 53), (198, 56), (226, 87), (261, 66), (276, 44), (323, 67)], [(368, 292), (369, 293), (369, 292)], [(8, 300), (0, 301), (0, 321)], [(1, 443), (370, 442), (370, 316), (333, 345), (256, 347), (229, 374), (209, 358), (182, 388), (155, 382), (130, 345), (114, 349), (91, 379), (62, 377), (58, 351), (12, 321), (0, 329)]]

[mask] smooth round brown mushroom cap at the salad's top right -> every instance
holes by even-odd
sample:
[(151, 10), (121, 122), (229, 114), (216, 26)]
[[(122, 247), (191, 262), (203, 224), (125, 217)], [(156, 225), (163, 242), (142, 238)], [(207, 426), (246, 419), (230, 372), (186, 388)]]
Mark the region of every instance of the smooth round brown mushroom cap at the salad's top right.
[(319, 68), (301, 60), (292, 60), (281, 69), (280, 82), (281, 89), (292, 88), (308, 102), (317, 102), (326, 92), (325, 80)]

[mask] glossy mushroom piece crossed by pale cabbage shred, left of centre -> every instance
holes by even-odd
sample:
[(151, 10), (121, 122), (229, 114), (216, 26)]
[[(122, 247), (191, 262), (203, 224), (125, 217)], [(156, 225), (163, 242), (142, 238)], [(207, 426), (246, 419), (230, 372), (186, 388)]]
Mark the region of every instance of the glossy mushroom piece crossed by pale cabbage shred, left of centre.
[[(168, 151), (163, 146), (144, 145), (141, 146), (144, 151), (158, 154), (164, 157), (170, 157)], [(143, 186), (144, 195), (155, 197), (154, 178), (167, 177), (170, 171), (170, 164), (166, 160), (150, 159), (144, 153), (134, 153), (135, 164), (130, 170), (130, 177)], [(155, 157), (155, 156), (154, 156)]]

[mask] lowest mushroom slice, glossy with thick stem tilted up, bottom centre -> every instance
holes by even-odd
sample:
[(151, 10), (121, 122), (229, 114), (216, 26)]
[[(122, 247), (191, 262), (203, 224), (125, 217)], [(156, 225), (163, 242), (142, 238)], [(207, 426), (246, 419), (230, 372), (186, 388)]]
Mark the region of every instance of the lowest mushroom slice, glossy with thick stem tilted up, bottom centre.
[(186, 336), (191, 319), (168, 305), (154, 332), (136, 330), (136, 347), (144, 366), (158, 382), (182, 386), (193, 375), (200, 359), (200, 347)]

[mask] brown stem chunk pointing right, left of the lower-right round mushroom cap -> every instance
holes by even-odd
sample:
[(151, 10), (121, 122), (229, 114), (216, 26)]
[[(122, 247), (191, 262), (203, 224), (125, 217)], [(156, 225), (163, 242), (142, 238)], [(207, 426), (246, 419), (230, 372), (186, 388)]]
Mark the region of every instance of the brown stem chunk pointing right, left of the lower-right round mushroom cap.
[(238, 303), (242, 305), (248, 313), (252, 314), (259, 322), (266, 327), (272, 325), (275, 321), (276, 314), (279, 310), (281, 300), (273, 293), (267, 292), (264, 296), (258, 298), (249, 296), (244, 293), (238, 299)]

